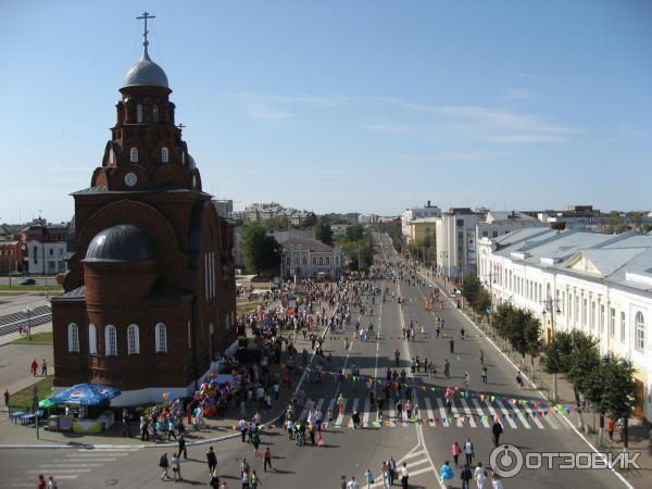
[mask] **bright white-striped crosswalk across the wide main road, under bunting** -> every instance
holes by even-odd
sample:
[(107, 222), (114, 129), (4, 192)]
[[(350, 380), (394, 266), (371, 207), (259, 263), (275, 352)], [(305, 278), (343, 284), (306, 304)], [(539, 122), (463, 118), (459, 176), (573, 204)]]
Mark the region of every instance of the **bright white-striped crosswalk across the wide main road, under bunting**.
[[(455, 398), (450, 411), (446, 399), (441, 397), (417, 397), (413, 400), (417, 408), (412, 419), (406, 418), (405, 411), (398, 418), (393, 402), (384, 408), (384, 416), (378, 417), (376, 409), (368, 398), (346, 398), (343, 411), (339, 412), (337, 400), (319, 398), (309, 400), (305, 409), (299, 415), (300, 422), (305, 422), (309, 409), (321, 411), (327, 428), (341, 429), (352, 426), (351, 416), (358, 411), (362, 426), (365, 428), (393, 428), (411, 426), (421, 423), (423, 426), (442, 428), (491, 428), (494, 419), (500, 421), (505, 429), (570, 429), (570, 425), (562, 419), (563, 414), (555, 410), (541, 410), (518, 403), (503, 402), (496, 398)], [(324, 410), (324, 406), (327, 406)], [(335, 411), (334, 411), (335, 409)]]

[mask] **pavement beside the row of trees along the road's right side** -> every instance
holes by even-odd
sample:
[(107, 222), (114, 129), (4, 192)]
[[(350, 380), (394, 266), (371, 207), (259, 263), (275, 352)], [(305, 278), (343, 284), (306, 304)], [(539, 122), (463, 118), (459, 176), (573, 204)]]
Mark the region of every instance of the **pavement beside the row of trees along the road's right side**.
[[(434, 283), (437, 287), (443, 290), (443, 280), (441, 277), (430, 278), (430, 273), (419, 267), (422, 276), (426, 277), (427, 280)], [(453, 288), (452, 281), (448, 281), (447, 290), (450, 291)], [(450, 298), (450, 296), (449, 296)], [(464, 301), (466, 302), (466, 301)], [(497, 347), (500, 347), (501, 351), (510, 358), (510, 360), (522, 366), (522, 372), (529, 376), (532, 386), (540, 390), (548, 399), (552, 401), (552, 374), (547, 374), (539, 366), (539, 359), (532, 359), (530, 355), (526, 355), (525, 360), (522, 359), (521, 354), (515, 353), (511, 347), (494, 335), (491, 326), (482, 321), (480, 317), (478, 321), (477, 315), (473, 309), (463, 306), (460, 312), (464, 314), (469, 321), (472, 321), (485, 336), (493, 341)], [(534, 362), (532, 362), (534, 360)], [(534, 365), (534, 367), (532, 367)], [(564, 378), (563, 375), (557, 375), (557, 402), (562, 404), (575, 404), (575, 393), (573, 385)], [(568, 421), (575, 421), (574, 426), (579, 432), (582, 432), (587, 441), (598, 448), (599, 451), (618, 453), (624, 451), (623, 442), (618, 434), (614, 434), (614, 440), (610, 440), (606, 434), (606, 423), (604, 419), (604, 432), (600, 440), (600, 416), (593, 410), (588, 406), (582, 406), (582, 419), (585, 427), (580, 429), (579, 415), (575, 414), (573, 417), (568, 416)], [(640, 453), (637, 462), (640, 466), (639, 471), (629, 471), (623, 473), (623, 475), (630, 481), (637, 481), (637, 487), (640, 484), (640, 479), (643, 477), (650, 479), (649, 487), (652, 487), (652, 439), (650, 425), (647, 422), (639, 419), (629, 419), (629, 443), (627, 451), (629, 453)], [(643, 486), (640, 486), (643, 487)]]

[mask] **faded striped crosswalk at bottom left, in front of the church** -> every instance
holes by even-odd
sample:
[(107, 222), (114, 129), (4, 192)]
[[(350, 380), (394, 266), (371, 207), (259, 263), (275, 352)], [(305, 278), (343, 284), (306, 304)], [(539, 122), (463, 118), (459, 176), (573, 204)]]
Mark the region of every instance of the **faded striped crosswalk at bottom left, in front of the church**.
[[(34, 465), (35, 468), (27, 469), (22, 477), (13, 479), (11, 487), (30, 487), (34, 488), (39, 474), (43, 474), (46, 479), (54, 477), (60, 488), (73, 486), (74, 480), (79, 476), (85, 476), (91, 472), (103, 467), (110, 462), (117, 462), (131, 452), (140, 450), (138, 447), (114, 447), (114, 448), (92, 448), (62, 450), (61, 456), (54, 460), (43, 461)], [(63, 452), (66, 452), (65, 454)]]

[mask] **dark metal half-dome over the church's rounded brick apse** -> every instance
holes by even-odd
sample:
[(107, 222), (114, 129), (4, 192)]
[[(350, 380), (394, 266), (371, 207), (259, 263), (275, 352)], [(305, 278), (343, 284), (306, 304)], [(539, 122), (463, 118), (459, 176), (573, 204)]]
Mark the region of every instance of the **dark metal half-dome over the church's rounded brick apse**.
[(156, 260), (156, 253), (147, 233), (130, 224), (118, 224), (101, 230), (92, 238), (86, 260), (146, 262)]

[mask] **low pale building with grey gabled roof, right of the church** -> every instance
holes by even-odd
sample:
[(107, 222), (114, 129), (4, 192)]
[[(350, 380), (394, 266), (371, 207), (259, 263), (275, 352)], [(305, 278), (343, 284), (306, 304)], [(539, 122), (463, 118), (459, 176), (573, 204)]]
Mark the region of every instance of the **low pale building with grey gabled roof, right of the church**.
[(290, 238), (281, 242), (280, 275), (284, 279), (317, 278), (328, 275), (339, 278), (342, 273), (342, 252), (316, 239)]

